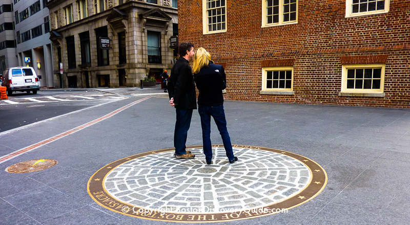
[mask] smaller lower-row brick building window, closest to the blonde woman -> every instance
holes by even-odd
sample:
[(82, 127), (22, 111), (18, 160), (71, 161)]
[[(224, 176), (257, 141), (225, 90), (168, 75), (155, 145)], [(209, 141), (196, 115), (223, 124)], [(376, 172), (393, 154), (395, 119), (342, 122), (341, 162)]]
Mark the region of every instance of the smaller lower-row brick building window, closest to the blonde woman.
[(293, 66), (262, 68), (262, 91), (293, 91)]

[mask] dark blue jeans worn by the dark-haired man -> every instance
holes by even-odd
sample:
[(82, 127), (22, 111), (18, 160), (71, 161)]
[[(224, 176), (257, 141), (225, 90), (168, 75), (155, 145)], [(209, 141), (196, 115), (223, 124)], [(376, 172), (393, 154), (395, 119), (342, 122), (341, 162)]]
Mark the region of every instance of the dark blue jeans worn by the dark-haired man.
[(175, 154), (182, 155), (187, 153), (188, 130), (191, 126), (192, 109), (176, 109), (176, 122), (174, 130)]

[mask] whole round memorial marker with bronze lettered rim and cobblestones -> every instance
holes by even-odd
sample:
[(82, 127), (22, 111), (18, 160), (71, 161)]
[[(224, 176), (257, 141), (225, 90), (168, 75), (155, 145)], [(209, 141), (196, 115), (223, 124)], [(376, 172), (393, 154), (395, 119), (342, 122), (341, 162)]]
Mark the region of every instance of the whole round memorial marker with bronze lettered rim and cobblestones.
[(217, 222), (286, 212), (318, 195), (327, 183), (323, 168), (278, 149), (233, 145), (230, 164), (223, 145), (213, 145), (207, 165), (202, 146), (195, 159), (175, 159), (174, 149), (129, 156), (99, 169), (88, 193), (112, 211), (145, 219)]

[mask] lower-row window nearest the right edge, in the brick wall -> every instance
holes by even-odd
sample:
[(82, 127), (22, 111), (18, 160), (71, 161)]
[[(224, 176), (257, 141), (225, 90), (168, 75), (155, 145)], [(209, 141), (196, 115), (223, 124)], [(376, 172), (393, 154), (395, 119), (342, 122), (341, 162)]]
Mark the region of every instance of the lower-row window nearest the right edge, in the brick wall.
[(383, 93), (384, 70), (384, 64), (342, 65), (341, 93)]

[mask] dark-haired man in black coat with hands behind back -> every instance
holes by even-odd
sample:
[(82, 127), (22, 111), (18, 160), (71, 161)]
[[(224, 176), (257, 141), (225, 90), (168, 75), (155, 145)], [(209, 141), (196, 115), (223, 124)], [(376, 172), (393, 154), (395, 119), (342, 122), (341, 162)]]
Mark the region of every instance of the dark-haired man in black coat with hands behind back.
[(171, 69), (168, 80), (170, 105), (175, 107), (174, 130), (175, 158), (193, 159), (195, 155), (187, 151), (188, 129), (191, 126), (192, 111), (196, 109), (195, 82), (189, 61), (194, 56), (194, 44), (182, 42), (179, 45), (179, 59)]

